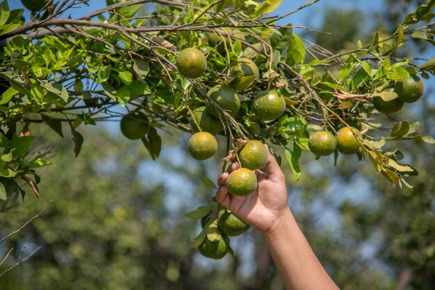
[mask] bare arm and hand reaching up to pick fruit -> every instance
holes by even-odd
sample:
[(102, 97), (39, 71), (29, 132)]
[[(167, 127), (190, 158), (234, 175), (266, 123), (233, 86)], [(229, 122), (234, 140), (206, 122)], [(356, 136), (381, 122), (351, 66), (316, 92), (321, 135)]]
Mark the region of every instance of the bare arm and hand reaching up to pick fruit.
[(217, 202), (254, 226), (265, 239), (288, 290), (338, 289), (313, 253), (287, 203), (284, 173), (269, 153), (266, 173), (255, 170), (258, 186), (249, 196), (231, 196), (225, 186), (229, 173), (240, 166), (233, 162), (217, 178)]

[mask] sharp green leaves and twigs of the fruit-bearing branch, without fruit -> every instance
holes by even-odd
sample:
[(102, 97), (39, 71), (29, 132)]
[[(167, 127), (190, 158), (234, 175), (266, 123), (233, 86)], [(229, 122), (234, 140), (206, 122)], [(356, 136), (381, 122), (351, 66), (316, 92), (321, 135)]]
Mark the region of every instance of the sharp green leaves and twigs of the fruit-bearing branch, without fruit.
[[(243, 110), (235, 117), (219, 110), (225, 128), (222, 134), (232, 140), (261, 139), (284, 147), (293, 143), (293, 150), (285, 148), (291, 155), (299, 148), (307, 149), (301, 144), (306, 144), (306, 134), (315, 126), (336, 131), (352, 125), (366, 133), (359, 138), (361, 157), (368, 156), (388, 180), (407, 184), (403, 177), (417, 174), (413, 167), (398, 164), (397, 158), (381, 151), (384, 140), (394, 138), (384, 135), (379, 139), (382, 130), (370, 121), (376, 117), (370, 99), (395, 99), (397, 95), (385, 89), (404, 76), (429, 77), (432, 67), (418, 67), (393, 53), (409, 38), (433, 42), (425, 23), (434, 16), (434, 1), (405, 17), (392, 35), (376, 34), (368, 44), (359, 42), (358, 49), (338, 54), (302, 39), (291, 24), (279, 27), (274, 24), (279, 18), (265, 17), (281, 1), (155, 1), (156, 10), (150, 17), (138, 15), (141, 2), (108, 1), (108, 7), (72, 19), (63, 15), (79, 2), (64, 1), (44, 15), (36, 13), (26, 23), (23, 10), (10, 11), (6, 0), (1, 3), (0, 198), (18, 192), (24, 197), (19, 179), (26, 180), (38, 196), (40, 177), (35, 170), (51, 165), (44, 155), (27, 154), (33, 142), (29, 126), (47, 123), (63, 136), (60, 123), (68, 123), (78, 155), (83, 143), (79, 126), (118, 119), (115, 106), (119, 104), (147, 114), (150, 129), (142, 142), (158, 157), (161, 137), (156, 128), (175, 126), (190, 131), (190, 109), (204, 102), (216, 106), (206, 91), (215, 83), (229, 84), (234, 77), (240, 78), (228, 70), (240, 57), (254, 60), (261, 74), (241, 94)], [(106, 16), (104, 12), (113, 13)], [(416, 23), (422, 26), (412, 26)], [(243, 33), (243, 40), (220, 27)], [(222, 37), (225, 53), (216, 51), (218, 44), (208, 45), (213, 34)], [(174, 65), (177, 51), (190, 47), (207, 56), (208, 70), (201, 78), (183, 78)], [(276, 122), (259, 121), (252, 114), (254, 93), (271, 87), (286, 97), (286, 114)], [(309, 126), (293, 131), (300, 122)], [(382, 124), (381, 129), (388, 126)], [(390, 135), (397, 134), (397, 126), (400, 123)], [(405, 137), (414, 132), (412, 128), (400, 134)], [(418, 138), (434, 142), (430, 137)], [(295, 174), (299, 174), (297, 155), (289, 160)]]

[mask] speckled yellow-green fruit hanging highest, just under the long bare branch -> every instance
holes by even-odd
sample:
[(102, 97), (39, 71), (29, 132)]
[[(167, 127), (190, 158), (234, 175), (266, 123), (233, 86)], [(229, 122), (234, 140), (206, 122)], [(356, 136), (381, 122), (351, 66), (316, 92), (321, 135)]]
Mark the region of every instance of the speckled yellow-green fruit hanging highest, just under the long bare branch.
[(199, 78), (207, 69), (207, 60), (201, 51), (188, 48), (181, 51), (176, 61), (179, 73), (186, 78)]

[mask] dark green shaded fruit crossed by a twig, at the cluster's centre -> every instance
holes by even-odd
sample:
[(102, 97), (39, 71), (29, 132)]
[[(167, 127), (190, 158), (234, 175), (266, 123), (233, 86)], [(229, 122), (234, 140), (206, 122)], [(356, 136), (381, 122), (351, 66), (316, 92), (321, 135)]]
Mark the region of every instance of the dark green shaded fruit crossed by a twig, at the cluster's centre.
[[(216, 85), (212, 87), (208, 93), (208, 97), (212, 99), (223, 110), (227, 110), (228, 114), (234, 116), (240, 109), (240, 99), (236, 89), (227, 85)], [(215, 118), (219, 118), (220, 112), (217, 112), (212, 103), (207, 102), (206, 108), (208, 112)]]

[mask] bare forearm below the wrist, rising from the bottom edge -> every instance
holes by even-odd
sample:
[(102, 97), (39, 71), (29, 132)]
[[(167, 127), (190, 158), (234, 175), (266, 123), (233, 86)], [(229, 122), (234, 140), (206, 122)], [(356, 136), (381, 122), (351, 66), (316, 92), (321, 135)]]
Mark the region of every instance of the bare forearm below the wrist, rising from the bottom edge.
[(315, 257), (290, 209), (262, 234), (286, 289), (338, 289)]

